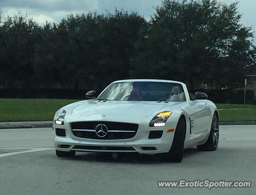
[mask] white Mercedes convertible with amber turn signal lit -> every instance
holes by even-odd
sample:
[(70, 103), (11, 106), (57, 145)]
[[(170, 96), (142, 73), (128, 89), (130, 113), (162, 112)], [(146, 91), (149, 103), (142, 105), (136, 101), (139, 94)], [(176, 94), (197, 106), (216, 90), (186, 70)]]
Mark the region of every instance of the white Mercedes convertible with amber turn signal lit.
[(64, 106), (54, 116), (59, 157), (76, 152), (166, 153), (181, 162), (184, 148), (213, 151), (219, 113), (207, 95), (194, 97), (182, 82), (135, 79), (111, 83), (98, 95)]

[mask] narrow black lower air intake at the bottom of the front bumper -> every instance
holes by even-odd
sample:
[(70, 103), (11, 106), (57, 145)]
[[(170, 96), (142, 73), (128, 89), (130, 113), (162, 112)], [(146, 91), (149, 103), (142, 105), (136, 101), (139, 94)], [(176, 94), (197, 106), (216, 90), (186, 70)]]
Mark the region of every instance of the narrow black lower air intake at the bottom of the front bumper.
[(84, 146), (84, 145), (76, 145), (72, 150), (108, 150), (108, 151), (136, 151), (133, 147), (121, 147), (121, 146)]

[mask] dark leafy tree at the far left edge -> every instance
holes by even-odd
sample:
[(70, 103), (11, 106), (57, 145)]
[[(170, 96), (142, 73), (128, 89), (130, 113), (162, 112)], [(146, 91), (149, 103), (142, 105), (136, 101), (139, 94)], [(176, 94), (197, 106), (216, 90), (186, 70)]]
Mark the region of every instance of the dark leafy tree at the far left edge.
[(0, 73), (5, 87), (30, 87), (32, 59), (40, 26), (22, 15), (8, 17), (1, 27)]

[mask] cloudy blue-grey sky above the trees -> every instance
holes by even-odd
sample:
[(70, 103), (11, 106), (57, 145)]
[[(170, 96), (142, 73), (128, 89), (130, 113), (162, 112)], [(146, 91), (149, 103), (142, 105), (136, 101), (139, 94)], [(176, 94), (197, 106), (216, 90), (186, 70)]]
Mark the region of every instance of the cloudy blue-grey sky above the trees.
[[(227, 4), (236, 0), (222, 0)], [(127, 11), (138, 11), (147, 20), (154, 13), (153, 6), (160, 5), (161, 0), (0, 0), (3, 16), (17, 13), (33, 16), (39, 24), (45, 21), (59, 22), (70, 13), (113, 13), (115, 7)], [(240, 0), (239, 12), (243, 13), (241, 23), (256, 29), (256, 0)]]

